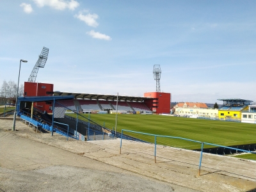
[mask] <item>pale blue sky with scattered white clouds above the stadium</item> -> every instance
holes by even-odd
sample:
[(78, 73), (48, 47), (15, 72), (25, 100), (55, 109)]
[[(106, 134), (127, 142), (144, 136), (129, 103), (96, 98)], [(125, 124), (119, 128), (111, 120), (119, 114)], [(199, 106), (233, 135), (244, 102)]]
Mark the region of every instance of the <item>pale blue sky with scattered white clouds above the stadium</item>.
[(143, 96), (172, 102), (256, 101), (256, 1), (0, 0), (0, 86), (28, 77), (54, 91)]

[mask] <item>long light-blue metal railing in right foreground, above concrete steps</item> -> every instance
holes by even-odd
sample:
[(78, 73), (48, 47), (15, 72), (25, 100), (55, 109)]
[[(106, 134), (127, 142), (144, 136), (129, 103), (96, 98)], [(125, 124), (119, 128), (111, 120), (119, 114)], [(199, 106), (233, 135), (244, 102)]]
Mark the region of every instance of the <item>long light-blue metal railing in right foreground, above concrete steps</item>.
[(154, 136), (154, 138), (155, 138), (155, 142), (154, 142), (154, 144), (155, 144), (155, 150), (154, 150), (155, 163), (156, 163), (156, 141), (157, 141), (157, 137), (173, 138), (173, 139), (179, 139), (179, 140), (192, 141), (194, 143), (201, 143), (201, 155), (200, 155), (200, 160), (199, 160), (199, 172), (198, 172), (198, 175), (200, 175), (200, 170), (201, 170), (201, 163), (202, 163), (202, 157), (203, 157), (204, 144), (205, 145), (212, 145), (212, 146), (215, 146), (215, 147), (229, 148), (229, 149), (233, 149), (233, 150), (237, 150), (237, 151), (241, 151), (241, 152), (246, 152), (246, 153), (251, 153), (251, 154), (256, 154), (256, 152), (251, 152), (249, 150), (243, 150), (243, 149), (239, 149), (239, 148), (227, 147), (227, 146), (223, 146), (223, 145), (216, 145), (216, 144), (213, 144), (213, 143), (206, 143), (206, 142), (196, 141), (196, 140), (189, 140), (187, 138), (180, 138), (180, 137), (175, 137), (175, 136), (163, 136), (163, 135), (158, 135), (158, 134), (149, 134), (149, 133), (145, 133), (145, 132), (130, 131), (130, 130), (126, 130), (126, 129), (122, 129), (121, 140), (120, 140), (120, 154), (121, 154), (121, 148), (122, 148), (122, 136), (123, 136), (123, 132), (124, 131), (138, 133), (138, 134), (145, 134), (145, 135), (149, 135), (149, 136)]

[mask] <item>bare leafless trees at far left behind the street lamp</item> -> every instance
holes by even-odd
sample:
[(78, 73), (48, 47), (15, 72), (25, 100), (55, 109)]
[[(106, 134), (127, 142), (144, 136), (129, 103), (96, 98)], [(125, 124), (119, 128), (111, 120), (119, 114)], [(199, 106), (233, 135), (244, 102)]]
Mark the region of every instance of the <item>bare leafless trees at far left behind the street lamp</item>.
[[(19, 90), (18, 90), (18, 97), (23, 96), (24, 92), (24, 85), (19, 84)], [(7, 104), (10, 103), (12, 100), (16, 99), (17, 94), (17, 83), (14, 81), (3, 81), (3, 84), (1, 86), (0, 90), (0, 104)]]

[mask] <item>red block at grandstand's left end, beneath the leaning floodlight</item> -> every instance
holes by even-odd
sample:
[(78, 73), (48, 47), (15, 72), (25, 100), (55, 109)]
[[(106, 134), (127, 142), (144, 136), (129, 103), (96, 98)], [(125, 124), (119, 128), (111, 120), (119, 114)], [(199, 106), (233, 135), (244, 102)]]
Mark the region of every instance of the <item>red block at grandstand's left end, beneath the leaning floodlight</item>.
[[(26, 96), (52, 96), (53, 84), (48, 83), (24, 83), (24, 97)], [(52, 102), (35, 102), (34, 108), (52, 113)]]

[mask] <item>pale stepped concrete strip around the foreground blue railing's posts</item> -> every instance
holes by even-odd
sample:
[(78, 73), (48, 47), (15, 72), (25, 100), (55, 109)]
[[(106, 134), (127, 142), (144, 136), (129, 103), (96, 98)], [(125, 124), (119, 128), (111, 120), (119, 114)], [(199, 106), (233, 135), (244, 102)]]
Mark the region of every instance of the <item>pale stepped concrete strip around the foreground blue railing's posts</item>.
[[(120, 140), (90, 141), (104, 148), (90, 152), (90, 156), (131, 172), (191, 187), (202, 191), (256, 191), (256, 162), (234, 157), (203, 154), (201, 174), (198, 176), (200, 152)], [(212, 188), (214, 186), (214, 188)]]

